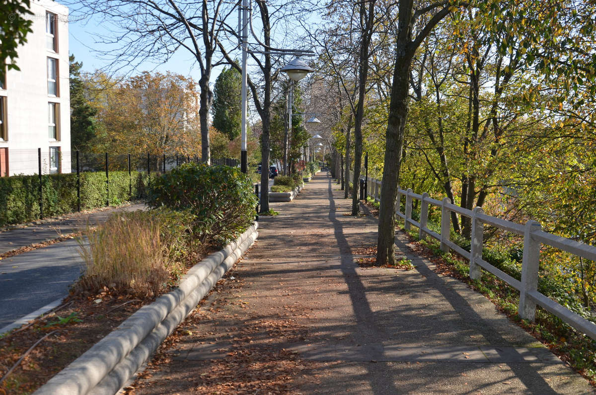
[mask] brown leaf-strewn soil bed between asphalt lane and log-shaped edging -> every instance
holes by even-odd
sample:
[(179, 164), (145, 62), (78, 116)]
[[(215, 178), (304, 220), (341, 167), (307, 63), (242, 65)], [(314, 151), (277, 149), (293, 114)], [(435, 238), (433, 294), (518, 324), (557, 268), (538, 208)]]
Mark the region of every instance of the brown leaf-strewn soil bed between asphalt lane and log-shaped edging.
[[(68, 297), (56, 311), (0, 338), (0, 394), (32, 393), (142, 304), (127, 295), (111, 295), (109, 290), (87, 297)], [(13, 370), (7, 375), (10, 369)]]

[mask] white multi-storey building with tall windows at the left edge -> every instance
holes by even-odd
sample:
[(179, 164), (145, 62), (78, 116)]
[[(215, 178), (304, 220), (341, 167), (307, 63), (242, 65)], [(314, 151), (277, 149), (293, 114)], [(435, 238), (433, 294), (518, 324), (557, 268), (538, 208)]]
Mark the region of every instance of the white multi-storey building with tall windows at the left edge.
[(69, 9), (31, 2), (33, 32), (18, 48), (20, 71), (0, 81), (0, 177), (70, 172)]

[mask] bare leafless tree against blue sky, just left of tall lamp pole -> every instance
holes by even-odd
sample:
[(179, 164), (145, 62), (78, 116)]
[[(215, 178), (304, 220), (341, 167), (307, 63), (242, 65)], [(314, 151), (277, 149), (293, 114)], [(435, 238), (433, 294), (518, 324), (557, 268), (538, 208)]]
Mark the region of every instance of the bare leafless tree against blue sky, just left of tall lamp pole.
[(218, 35), (235, 4), (224, 0), (82, 0), (71, 7), (80, 7), (86, 14), (101, 14), (110, 26), (110, 33), (98, 36), (97, 42), (109, 47), (100, 51), (111, 60), (113, 70), (134, 69), (146, 60), (163, 63), (178, 50), (192, 54), (200, 69), (201, 158), (210, 163), (209, 111), (213, 92), (209, 79), (213, 67), (221, 62)]

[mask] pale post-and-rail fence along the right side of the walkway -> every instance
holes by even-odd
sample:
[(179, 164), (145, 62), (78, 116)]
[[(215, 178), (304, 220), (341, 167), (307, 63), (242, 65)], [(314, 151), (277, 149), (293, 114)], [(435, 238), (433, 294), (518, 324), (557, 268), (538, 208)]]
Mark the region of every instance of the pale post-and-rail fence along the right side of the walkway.
[[(381, 181), (369, 177), (367, 182), (367, 195), (373, 198), (375, 202), (380, 202), (380, 190)], [(405, 213), (400, 211), (401, 208), (399, 202), (401, 201), (401, 195), (405, 195), (406, 197)], [(412, 220), (412, 202), (414, 199), (420, 200), (421, 203), (420, 222)], [(433, 232), (427, 227), (429, 220), (429, 205), (434, 205), (441, 209), (440, 234)], [(465, 249), (449, 240), (451, 211), (471, 218), (472, 229), (470, 252), (465, 251)], [(480, 268), (482, 268), (490, 271), (496, 277), (499, 277), (499, 279), (520, 291), (519, 314), (523, 319), (533, 321), (536, 314), (536, 304), (538, 304), (545, 310), (569, 323), (573, 328), (596, 340), (596, 325), (594, 323), (573, 313), (573, 311), (570, 311), (568, 308), (563, 307), (538, 292), (538, 267), (542, 244), (553, 246), (592, 261), (596, 261), (596, 247), (579, 243), (575, 240), (566, 239), (565, 237), (556, 236), (555, 234), (548, 232), (543, 232), (541, 230), (541, 225), (536, 221), (530, 220), (527, 221), (525, 225), (520, 225), (511, 221), (502, 220), (501, 218), (486, 215), (480, 207), (476, 207), (470, 211), (452, 204), (449, 198), (436, 200), (430, 198), (429, 194), (426, 192), (422, 195), (418, 195), (417, 193), (412, 192), (411, 189), (403, 190), (399, 189), (399, 187), (398, 198), (396, 201), (396, 215), (405, 221), (404, 227), (406, 230), (409, 230), (412, 225), (418, 227), (418, 235), (421, 240), (427, 235), (432, 236), (435, 239), (440, 240), (440, 249), (442, 251), (449, 252), (449, 249), (452, 249), (462, 257), (467, 258), (468, 261), (470, 261), (470, 277), (472, 279), (480, 279)], [(507, 273), (504, 273), (482, 259), (485, 224), (524, 237), (521, 281), (514, 279)]]

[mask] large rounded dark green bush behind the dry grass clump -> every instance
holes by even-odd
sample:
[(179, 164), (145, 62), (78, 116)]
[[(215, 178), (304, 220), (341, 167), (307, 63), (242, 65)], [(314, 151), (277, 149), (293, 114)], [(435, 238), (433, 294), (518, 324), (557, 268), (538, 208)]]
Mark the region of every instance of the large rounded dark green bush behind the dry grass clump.
[(257, 198), (252, 181), (238, 168), (185, 163), (152, 183), (148, 203), (190, 209), (201, 242), (223, 244), (253, 223)]

